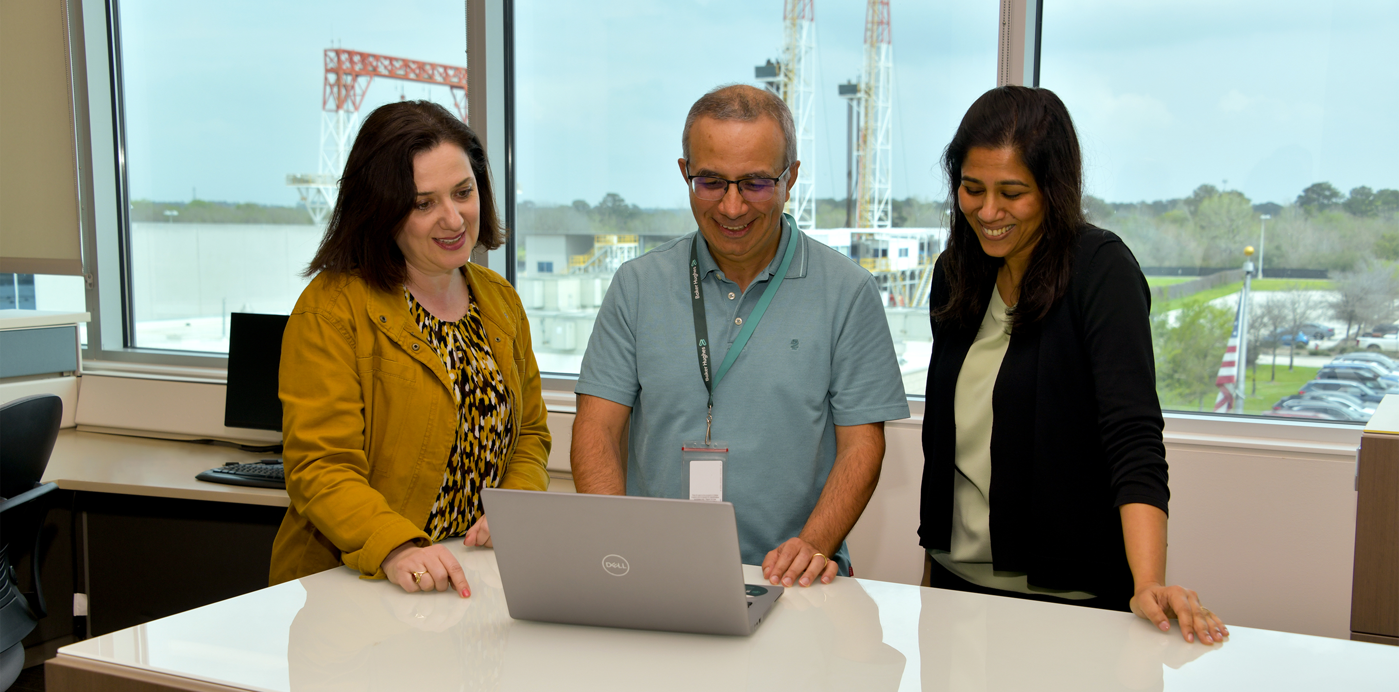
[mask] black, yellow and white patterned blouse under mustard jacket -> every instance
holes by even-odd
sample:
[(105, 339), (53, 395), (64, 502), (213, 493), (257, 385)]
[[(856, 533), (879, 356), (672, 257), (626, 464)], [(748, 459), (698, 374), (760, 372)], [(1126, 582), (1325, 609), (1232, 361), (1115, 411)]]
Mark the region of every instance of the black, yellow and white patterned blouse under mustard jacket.
[(501, 484), (515, 421), (505, 377), (491, 356), (481, 313), (471, 301), (466, 316), (442, 322), (422, 308), (407, 288), (409, 312), (428, 345), (446, 366), (456, 400), (456, 439), (446, 460), (428, 523), (434, 541), (462, 535), (481, 517), (481, 489)]

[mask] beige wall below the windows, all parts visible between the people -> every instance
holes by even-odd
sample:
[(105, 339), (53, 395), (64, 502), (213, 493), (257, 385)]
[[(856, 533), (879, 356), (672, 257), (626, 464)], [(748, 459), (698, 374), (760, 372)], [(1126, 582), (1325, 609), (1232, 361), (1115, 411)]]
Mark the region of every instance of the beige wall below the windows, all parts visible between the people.
[[(77, 424), (276, 442), (273, 432), (224, 428), (222, 397), (221, 384), (87, 375)], [(550, 489), (572, 492), (572, 397), (551, 391), (546, 403), (554, 438)], [(1358, 440), (1358, 429), (1353, 436)], [(916, 584), (923, 573), (918, 547), (922, 421), (887, 424), (886, 442), (879, 488), (848, 538), (851, 559), (859, 577)], [(1168, 582), (1199, 591), (1233, 625), (1349, 639), (1353, 442), (1168, 429), (1167, 460)]]

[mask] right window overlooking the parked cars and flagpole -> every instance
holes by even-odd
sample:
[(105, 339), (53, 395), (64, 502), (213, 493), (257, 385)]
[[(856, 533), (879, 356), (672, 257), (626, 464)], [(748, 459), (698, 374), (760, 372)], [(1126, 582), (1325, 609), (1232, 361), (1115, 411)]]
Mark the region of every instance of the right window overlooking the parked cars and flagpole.
[(1364, 337), (1396, 322), (1399, 73), (1360, 67), (1392, 63), (1396, 31), (1393, 3), (1045, 8), (1039, 84), (1079, 127), (1086, 211), (1156, 294), (1163, 408), (1216, 410), (1254, 246), (1242, 411), (1368, 418), (1364, 400), (1272, 410), (1337, 354), (1399, 355), (1393, 337)]

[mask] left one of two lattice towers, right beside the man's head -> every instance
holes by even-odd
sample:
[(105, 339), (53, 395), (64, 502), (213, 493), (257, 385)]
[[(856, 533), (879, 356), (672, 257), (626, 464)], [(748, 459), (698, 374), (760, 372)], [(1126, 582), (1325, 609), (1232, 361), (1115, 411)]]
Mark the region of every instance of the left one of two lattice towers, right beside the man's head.
[(782, 10), (782, 96), (796, 126), (796, 158), (802, 162), (788, 211), (802, 231), (816, 229), (816, 4), (786, 0)]

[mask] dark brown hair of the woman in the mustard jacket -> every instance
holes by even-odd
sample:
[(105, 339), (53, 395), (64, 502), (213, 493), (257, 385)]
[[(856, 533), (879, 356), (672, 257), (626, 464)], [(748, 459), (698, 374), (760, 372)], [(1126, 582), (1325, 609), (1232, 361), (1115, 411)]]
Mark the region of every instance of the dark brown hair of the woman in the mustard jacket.
[(462, 147), (481, 200), (476, 245), (497, 249), (505, 229), (495, 214), (491, 171), (481, 140), (456, 116), (431, 101), (400, 101), (374, 109), (350, 148), (326, 236), (302, 275), (358, 273), (369, 285), (393, 291), (407, 268), (395, 238), (417, 199), (413, 158), (452, 143)]

